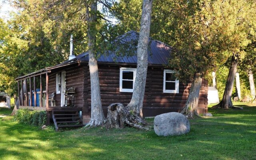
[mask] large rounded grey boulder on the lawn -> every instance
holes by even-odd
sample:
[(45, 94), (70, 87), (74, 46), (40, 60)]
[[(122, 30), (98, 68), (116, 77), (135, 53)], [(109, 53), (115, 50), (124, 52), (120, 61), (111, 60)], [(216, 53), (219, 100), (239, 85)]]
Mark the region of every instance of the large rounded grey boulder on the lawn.
[(155, 117), (154, 131), (158, 136), (176, 136), (188, 133), (190, 124), (181, 113), (164, 113)]

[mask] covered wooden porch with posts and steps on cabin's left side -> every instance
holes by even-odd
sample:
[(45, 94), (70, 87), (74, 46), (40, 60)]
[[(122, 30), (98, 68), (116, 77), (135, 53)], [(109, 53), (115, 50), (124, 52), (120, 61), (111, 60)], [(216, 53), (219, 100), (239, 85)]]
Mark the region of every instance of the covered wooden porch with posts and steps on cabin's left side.
[[(75, 96), (76, 94), (74, 87), (72, 93), (67, 92), (74, 83), (69, 81), (69, 88), (66, 90), (66, 71), (51, 72), (50, 70), (44, 70), (16, 78), (20, 91), (18, 92), (19, 109), (46, 111), (46, 125), (54, 122), (56, 130), (60, 127), (83, 126), (83, 106), (78, 105), (74, 99), (72, 99), (72, 103), (71, 100), (68, 101), (68, 96)], [(60, 74), (65, 73), (61, 76), (61, 84), (65, 85), (61, 85), (60, 93), (57, 93), (51, 100), (50, 95), (56, 93), (56, 75), (59, 72)], [(54, 102), (51, 103), (52, 101)]]

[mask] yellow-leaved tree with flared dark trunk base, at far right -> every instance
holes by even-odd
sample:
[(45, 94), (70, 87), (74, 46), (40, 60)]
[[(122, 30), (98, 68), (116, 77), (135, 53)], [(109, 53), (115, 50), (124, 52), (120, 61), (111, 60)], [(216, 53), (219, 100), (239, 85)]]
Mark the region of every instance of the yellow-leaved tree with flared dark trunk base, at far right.
[(220, 23), (222, 24), (223, 45), (232, 53), (230, 70), (226, 82), (222, 101), (213, 108), (234, 108), (231, 94), (234, 85), (238, 61), (246, 56), (245, 49), (255, 38), (256, 18), (255, 1), (237, 0), (220, 1), (216, 9), (220, 10)]

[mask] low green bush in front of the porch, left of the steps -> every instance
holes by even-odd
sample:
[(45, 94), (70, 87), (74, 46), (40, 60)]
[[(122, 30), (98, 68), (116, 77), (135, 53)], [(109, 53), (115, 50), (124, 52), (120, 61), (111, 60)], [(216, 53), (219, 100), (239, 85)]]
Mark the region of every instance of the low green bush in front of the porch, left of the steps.
[(19, 109), (13, 120), (15, 122), (41, 127), (46, 124), (46, 112), (38, 110)]

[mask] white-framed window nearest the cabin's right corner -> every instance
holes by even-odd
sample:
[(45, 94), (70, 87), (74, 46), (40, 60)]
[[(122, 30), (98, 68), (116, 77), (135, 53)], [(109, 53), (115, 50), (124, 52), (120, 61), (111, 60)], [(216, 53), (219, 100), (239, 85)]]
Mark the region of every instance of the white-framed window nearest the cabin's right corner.
[(179, 93), (179, 80), (173, 70), (164, 70), (164, 93)]

